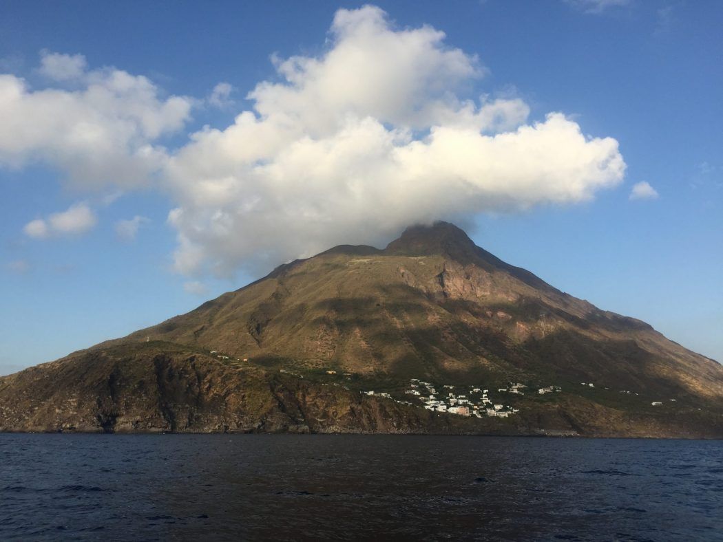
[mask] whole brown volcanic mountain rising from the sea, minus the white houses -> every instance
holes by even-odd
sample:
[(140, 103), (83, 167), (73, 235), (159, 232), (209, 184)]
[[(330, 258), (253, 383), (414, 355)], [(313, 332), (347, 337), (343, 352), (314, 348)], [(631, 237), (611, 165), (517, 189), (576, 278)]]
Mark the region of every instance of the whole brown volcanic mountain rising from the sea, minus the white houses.
[[(473, 419), (400, 402), (411, 378), (564, 392)], [(447, 223), (408, 228), (384, 250), (291, 262), (188, 314), (0, 377), (4, 431), (721, 437), (722, 421), (720, 364)]]

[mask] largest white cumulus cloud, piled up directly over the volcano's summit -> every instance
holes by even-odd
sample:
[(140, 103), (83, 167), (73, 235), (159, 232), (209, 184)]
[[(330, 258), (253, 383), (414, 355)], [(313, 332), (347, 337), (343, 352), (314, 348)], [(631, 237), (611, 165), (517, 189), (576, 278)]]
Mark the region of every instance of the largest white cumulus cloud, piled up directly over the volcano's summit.
[(340, 9), (319, 56), (274, 58), (226, 129), (166, 163), (180, 272), (260, 270), (411, 223), (586, 201), (623, 178), (615, 139), (518, 98), (464, 98), (476, 56), (381, 9)]

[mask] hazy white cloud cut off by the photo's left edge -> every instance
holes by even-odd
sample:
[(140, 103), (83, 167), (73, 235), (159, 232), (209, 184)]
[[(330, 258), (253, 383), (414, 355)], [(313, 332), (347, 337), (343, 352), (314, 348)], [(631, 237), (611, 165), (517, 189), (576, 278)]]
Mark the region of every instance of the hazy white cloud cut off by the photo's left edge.
[(33, 90), (0, 74), (0, 166), (40, 161), (88, 188), (137, 186), (163, 165), (155, 142), (181, 129), (193, 100), (161, 97), (149, 79), (119, 69), (87, 70), (85, 57), (41, 53), (40, 72), (76, 90)]

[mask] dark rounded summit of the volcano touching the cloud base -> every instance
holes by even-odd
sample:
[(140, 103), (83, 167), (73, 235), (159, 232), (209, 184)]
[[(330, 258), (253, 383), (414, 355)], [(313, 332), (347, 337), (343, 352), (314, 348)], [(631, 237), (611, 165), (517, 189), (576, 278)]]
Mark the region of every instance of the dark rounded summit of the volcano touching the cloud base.
[(385, 252), (404, 256), (442, 254), (454, 259), (469, 259), (478, 250), (461, 228), (439, 221), (432, 225), (409, 226), (398, 239), (387, 245)]

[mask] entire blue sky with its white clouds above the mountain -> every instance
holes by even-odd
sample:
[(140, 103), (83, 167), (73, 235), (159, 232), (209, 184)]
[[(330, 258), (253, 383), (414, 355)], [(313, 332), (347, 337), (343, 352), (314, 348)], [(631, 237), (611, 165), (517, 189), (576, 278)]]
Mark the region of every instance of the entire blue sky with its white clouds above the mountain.
[(723, 360), (723, 5), (376, 5), (5, 2), (0, 374), (435, 218)]

